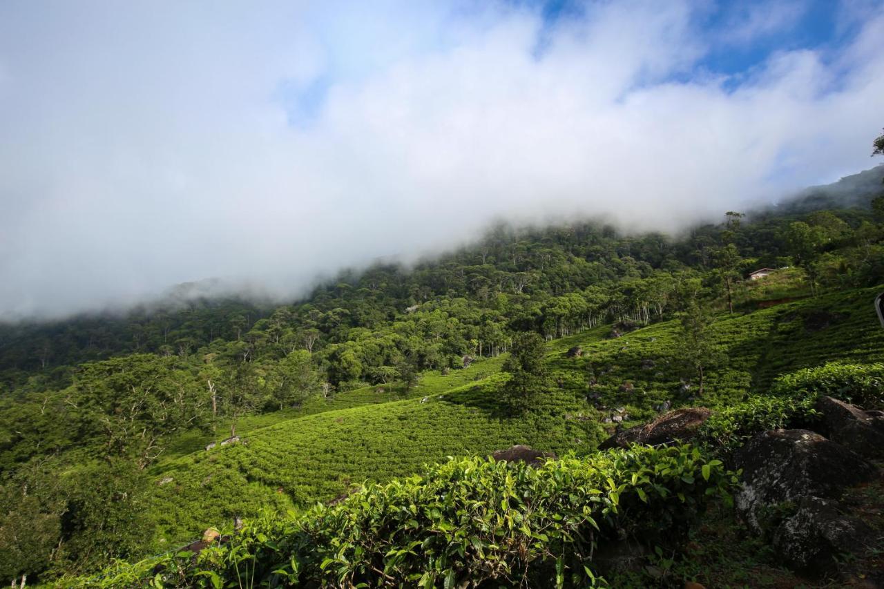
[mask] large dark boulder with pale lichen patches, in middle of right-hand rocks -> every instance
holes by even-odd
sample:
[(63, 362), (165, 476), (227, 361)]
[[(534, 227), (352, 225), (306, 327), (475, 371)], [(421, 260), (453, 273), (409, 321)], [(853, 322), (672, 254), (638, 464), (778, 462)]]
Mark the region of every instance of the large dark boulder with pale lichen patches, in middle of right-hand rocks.
[(755, 532), (766, 531), (766, 510), (783, 501), (834, 499), (876, 475), (859, 455), (808, 430), (758, 433), (736, 453), (735, 463), (743, 469), (736, 509)]

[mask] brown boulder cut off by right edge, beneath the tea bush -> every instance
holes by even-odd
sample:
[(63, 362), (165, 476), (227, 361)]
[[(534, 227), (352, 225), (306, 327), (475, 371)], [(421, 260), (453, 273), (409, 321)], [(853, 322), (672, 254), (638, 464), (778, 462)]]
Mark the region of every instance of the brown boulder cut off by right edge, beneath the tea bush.
[(859, 455), (884, 458), (884, 412), (864, 411), (832, 397), (821, 397), (816, 409), (830, 440)]

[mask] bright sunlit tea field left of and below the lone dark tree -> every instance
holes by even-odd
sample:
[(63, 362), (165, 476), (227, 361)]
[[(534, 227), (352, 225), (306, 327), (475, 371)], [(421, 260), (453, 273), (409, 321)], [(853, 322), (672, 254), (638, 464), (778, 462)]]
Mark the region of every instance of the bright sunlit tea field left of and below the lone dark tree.
[[(528, 443), (556, 452), (587, 452), (598, 443), (592, 424), (567, 420), (573, 395), (552, 394), (523, 418), (483, 407), (501, 377), (456, 393), (366, 405), (292, 419), (256, 430), (245, 444), (199, 452), (167, 464), (154, 512), (168, 540), (187, 539), (232, 516), (262, 507), (327, 501), (354, 483), (419, 470), (446, 455), (487, 455)], [(456, 398), (452, 398), (456, 397)], [(469, 401), (463, 402), (463, 401)], [(161, 479), (162, 480), (162, 479)]]

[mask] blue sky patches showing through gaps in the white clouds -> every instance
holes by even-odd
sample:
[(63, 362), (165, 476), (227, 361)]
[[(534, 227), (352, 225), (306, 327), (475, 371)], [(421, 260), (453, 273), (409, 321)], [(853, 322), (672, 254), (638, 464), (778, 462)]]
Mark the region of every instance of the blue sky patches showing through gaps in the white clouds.
[[(466, 19), (482, 14), (488, 3), (466, 2), (449, 5), (450, 14)], [(534, 12), (537, 27), (533, 55), (543, 59), (549, 43), (560, 29), (573, 27), (594, 18), (608, 2), (584, 0), (508, 0), (502, 3), (515, 10)], [(443, 3), (444, 5), (444, 3)], [(832, 60), (850, 45), (862, 30), (862, 19), (873, 13), (878, 2), (836, 2), (834, 0), (720, 1), (693, 3), (690, 30), (702, 47), (682, 68), (675, 68), (660, 81), (690, 82), (710, 76), (720, 78), (720, 87), (733, 91), (763, 67), (773, 56), (783, 52), (812, 50), (822, 61)], [(444, 13), (444, 11), (442, 11)], [(443, 19), (442, 22), (445, 22)], [(318, 28), (322, 30), (322, 22)], [(322, 36), (322, 35), (321, 35)], [(347, 38), (347, 42), (341, 42)], [(388, 65), (386, 59), (396, 54), (374, 55), (371, 34), (331, 34), (324, 37), (330, 57), (326, 68), (303, 83), (283, 83), (280, 100), (296, 127), (309, 127), (322, 109), (330, 88), (339, 80), (365, 75)], [(450, 49), (451, 40), (438, 30), (420, 42), (409, 45), (415, 53)], [(836, 83), (837, 79), (832, 80)], [(636, 82), (641, 85), (642, 82)]]

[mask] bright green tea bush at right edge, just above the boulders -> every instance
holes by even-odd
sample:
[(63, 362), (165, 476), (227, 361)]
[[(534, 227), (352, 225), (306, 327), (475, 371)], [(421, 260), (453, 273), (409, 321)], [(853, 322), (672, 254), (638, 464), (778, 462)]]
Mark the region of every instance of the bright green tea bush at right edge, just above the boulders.
[(783, 374), (773, 381), (773, 394), (791, 397), (828, 395), (864, 409), (884, 408), (884, 363), (827, 363)]

